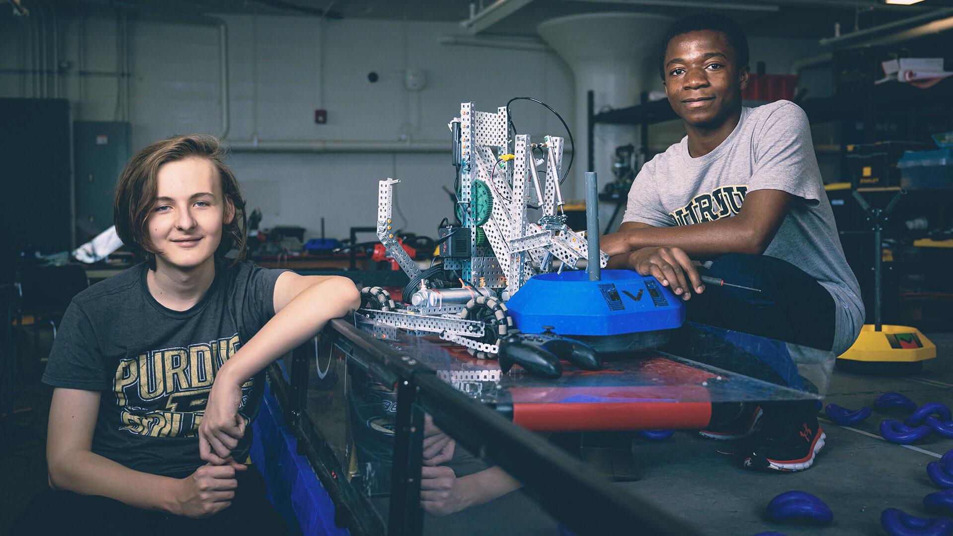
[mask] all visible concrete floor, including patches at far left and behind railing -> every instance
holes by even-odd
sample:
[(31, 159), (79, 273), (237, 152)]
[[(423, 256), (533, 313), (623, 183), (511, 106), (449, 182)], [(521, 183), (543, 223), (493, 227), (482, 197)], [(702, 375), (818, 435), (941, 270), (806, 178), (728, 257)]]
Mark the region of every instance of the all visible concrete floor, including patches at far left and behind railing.
[[(835, 370), (824, 402), (856, 409), (871, 405), (883, 392), (896, 391), (918, 404), (943, 402), (953, 407), (953, 333), (926, 335), (937, 345), (938, 357), (925, 361), (922, 371), (888, 377)], [(44, 389), (36, 383), (30, 386)], [(4, 477), (0, 479), (0, 534), (6, 533), (10, 520), (26, 500), (45, 486), (42, 433), (44, 406), (49, 399), (39, 396), (27, 400), (32, 397), (29, 391), (28, 388), (20, 393), (15, 407), (26, 404), (35, 412), (36, 422), (25, 427), (34, 428), (40, 441), (8, 449), (0, 456), (4, 465)], [(926, 464), (953, 448), (953, 440), (935, 434), (912, 447), (882, 440), (878, 430), (882, 420), (903, 417), (901, 410), (875, 412), (850, 428), (822, 421), (827, 443), (815, 465), (798, 473), (742, 469), (732, 457), (718, 452), (729, 446), (726, 442), (705, 440), (689, 431), (677, 432), (658, 443), (636, 440), (633, 452), (639, 461), (641, 479), (617, 485), (679, 515), (704, 534), (752, 536), (777, 531), (787, 536), (883, 535), (880, 516), (886, 507), (895, 506), (921, 517), (930, 515), (923, 509), (923, 496), (940, 488), (927, 478)], [(833, 523), (814, 526), (768, 521), (764, 513), (768, 502), (795, 489), (820, 497), (834, 512)], [(428, 516), (425, 529), (427, 534), (479, 536), (559, 533), (556, 521), (539, 511), (521, 492), (475, 506), (465, 513), (442, 518)], [(633, 527), (632, 533), (638, 533), (638, 527)]]

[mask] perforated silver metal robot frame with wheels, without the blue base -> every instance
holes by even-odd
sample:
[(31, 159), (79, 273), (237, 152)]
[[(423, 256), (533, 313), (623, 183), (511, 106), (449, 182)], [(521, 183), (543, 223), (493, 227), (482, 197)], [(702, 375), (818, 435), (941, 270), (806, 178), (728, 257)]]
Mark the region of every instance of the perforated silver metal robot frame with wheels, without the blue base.
[[(363, 289), (364, 301), (371, 307), (358, 310), (361, 321), (437, 333), (477, 353), (497, 354), (497, 338), (514, 327), (504, 302), (529, 278), (554, 271), (554, 258), (561, 271), (575, 269), (580, 258), (588, 257), (585, 234), (570, 229), (561, 214), (562, 138), (547, 135), (539, 144), (529, 134), (511, 139), (508, 125), (506, 107), (499, 107), (497, 113), (477, 112), (472, 102), (462, 103), (460, 116), (451, 122), (455, 136), (458, 132), (456, 204), (462, 225), (444, 238), (462, 233), (464, 240), (469, 238), (469, 248), (464, 250), (465, 257), (443, 258), (442, 266), (462, 274), (460, 288), (427, 288), (423, 272), (394, 237), (393, 188), (399, 180), (379, 181), (377, 237), (411, 281), (421, 282), (421, 288), (412, 303), (399, 307), (383, 289)], [(534, 150), (541, 151), (543, 158), (535, 158)], [(543, 163), (546, 171), (540, 179), (537, 168)], [(531, 205), (533, 194), (537, 206)], [(536, 223), (527, 219), (529, 207), (542, 214)], [(608, 257), (599, 252), (599, 259), (605, 266)], [(488, 326), (496, 333), (487, 333)]]

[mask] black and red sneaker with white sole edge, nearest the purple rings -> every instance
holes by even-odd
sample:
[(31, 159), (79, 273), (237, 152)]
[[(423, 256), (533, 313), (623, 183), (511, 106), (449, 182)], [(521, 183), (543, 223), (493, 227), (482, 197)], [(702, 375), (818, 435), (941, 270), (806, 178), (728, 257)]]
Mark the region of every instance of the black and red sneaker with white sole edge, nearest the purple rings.
[(758, 435), (751, 440), (742, 464), (752, 469), (801, 471), (814, 464), (814, 457), (827, 437), (810, 415), (797, 421), (771, 419), (766, 416)]

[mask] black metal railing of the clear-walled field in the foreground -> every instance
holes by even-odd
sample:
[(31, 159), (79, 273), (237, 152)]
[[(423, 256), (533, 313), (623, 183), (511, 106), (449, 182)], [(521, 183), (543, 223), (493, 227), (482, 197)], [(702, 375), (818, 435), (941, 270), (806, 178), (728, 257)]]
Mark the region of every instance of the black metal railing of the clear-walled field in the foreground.
[[(419, 494), (425, 413), (459, 445), (512, 475), (543, 509), (579, 536), (700, 534), (697, 528), (610, 483), (580, 460), (439, 380), (414, 356), (374, 340), (347, 320), (332, 320), (323, 336), (347, 356), (348, 366), (359, 366), (375, 381), (396, 385), (388, 536), (414, 536), (423, 530)], [(289, 416), (299, 453), (314, 465), (335, 503), (335, 522), (357, 535), (380, 534), (383, 521), (370, 501), (343, 478), (344, 467), (303, 411), (308, 370), (304, 363), (308, 359), (305, 351), (294, 352), (289, 387), (276, 385), (275, 397)], [(273, 374), (273, 383), (282, 383), (276, 380), (278, 376)]]

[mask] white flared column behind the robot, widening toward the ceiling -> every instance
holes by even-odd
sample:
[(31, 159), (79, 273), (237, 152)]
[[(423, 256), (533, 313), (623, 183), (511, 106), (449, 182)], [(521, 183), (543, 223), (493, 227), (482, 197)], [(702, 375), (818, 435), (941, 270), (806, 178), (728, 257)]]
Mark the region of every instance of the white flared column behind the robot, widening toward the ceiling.
[[(578, 155), (573, 162), (573, 175), (562, 189), (565, 196), (585, 197), (582, 176), (588, 159), (586, 93), (595, 93), (598, 113), (605, 107), (633, 106), (639, 102), (640, 92), (660, 86), (656, 56), (662, 34), (674, 22), (674, 18), (656, 14), (606, 12), (559, 17), (537, 26), (539, 35), (569, 64), (576, 79), (573, 136)], [(615, 180), (612, 163), (616, 147), (627, 143), (638, 146), (637, 138), (638, 127), (634, 125), (598, 125), (594, 161), (600, 184)], [(564, 158), (563, 165), (566, 163)], [(604, 208), (611, 214), (614, 207)]]

